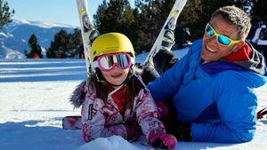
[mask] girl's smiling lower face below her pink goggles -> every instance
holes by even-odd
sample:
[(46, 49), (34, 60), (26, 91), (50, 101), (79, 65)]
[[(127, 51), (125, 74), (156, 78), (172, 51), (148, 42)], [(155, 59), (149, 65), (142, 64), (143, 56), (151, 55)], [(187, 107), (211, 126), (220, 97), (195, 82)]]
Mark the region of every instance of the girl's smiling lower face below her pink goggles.
[(129, 68), (121, 69), (117, 66), (113, 67), (109, 71), (102, 71), (101, 73), (103, 77), (107, 80), (107, 82), (113, 84), (113, 85), (121, 85), (125, 82), (127, 75), (129, 73)]

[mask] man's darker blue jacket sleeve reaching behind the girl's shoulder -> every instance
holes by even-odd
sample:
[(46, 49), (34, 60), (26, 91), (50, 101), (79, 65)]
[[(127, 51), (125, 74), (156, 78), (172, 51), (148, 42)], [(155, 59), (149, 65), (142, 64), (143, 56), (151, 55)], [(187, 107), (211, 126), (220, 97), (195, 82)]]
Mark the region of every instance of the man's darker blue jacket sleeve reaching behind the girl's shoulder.
[(190, 56), (191, 48), (187, 55), (174, 64), (174, 67), (166, 70), (163, 75), (148, 84), (148, 89), (154, 99), (166, 101), (174, 97), (174, 94), (179, 91), (182, 77), (189, 67)]

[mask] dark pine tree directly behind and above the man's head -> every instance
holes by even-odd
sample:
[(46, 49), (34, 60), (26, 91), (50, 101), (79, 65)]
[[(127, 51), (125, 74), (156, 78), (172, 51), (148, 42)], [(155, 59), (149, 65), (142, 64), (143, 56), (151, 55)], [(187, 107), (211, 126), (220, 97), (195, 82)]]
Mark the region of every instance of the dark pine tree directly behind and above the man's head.
[[(211, 15), (218, 8), (225, 5), (236, 5), (249, 13), (249, 8), (254, 4), (254, 0), (189, 0), (178, 18), (175, 43), (179, 48), (185, 41), (191, 42), (202, 38), (206, 23)], [(188, 28), (188, 30), (186, 29)], [(190, 35), (186, 32), (190, 31)]]

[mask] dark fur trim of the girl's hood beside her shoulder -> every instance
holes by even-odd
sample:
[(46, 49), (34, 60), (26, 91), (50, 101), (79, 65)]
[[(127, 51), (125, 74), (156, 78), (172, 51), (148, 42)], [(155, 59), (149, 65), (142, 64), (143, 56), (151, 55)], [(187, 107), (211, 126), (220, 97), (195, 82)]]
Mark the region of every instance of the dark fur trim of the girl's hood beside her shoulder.
[(81, 107), (85, 101), (86, 94), (86, 80), (78, 84), (75, 91), (73, 91), (69, 101), (74, 107)]

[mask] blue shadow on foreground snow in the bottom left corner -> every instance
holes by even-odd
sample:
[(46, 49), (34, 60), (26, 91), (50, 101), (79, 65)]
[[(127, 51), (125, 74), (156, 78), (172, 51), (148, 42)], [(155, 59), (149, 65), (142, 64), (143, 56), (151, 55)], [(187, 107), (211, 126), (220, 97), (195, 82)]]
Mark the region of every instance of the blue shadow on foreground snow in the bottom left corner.
[[(61, 118), (53, 118), (61, 122)], [(46, 121), (0, 123), (1, 149), (73, 150), (85, 144), (80, 130), (40, 126)]]

